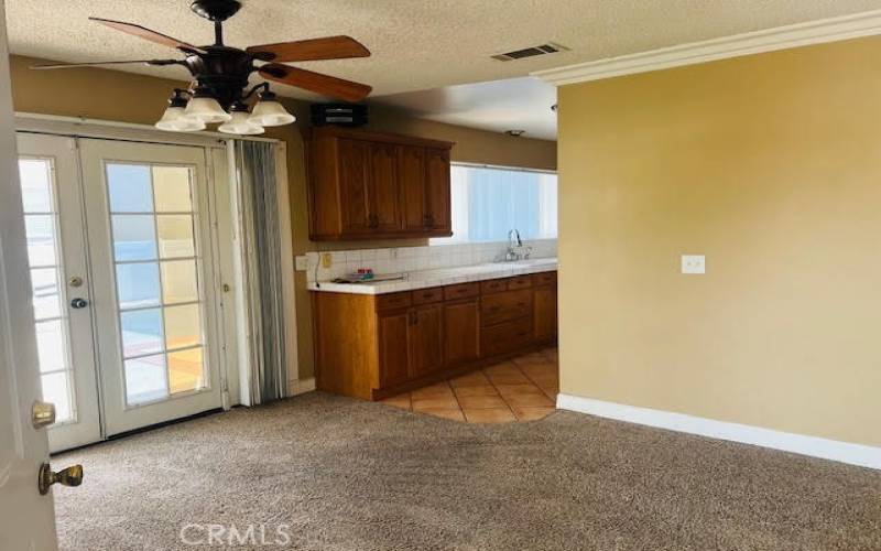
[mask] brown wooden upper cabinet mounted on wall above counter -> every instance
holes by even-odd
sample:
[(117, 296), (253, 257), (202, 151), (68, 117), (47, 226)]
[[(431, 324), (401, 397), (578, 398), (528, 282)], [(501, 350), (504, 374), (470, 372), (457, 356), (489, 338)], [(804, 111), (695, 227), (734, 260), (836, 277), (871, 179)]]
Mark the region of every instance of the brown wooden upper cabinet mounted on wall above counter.
[(308, 130), (311, 239), (452, 235), (452, 147), (336, 127)]

